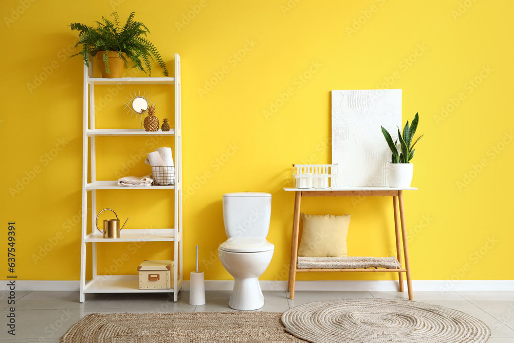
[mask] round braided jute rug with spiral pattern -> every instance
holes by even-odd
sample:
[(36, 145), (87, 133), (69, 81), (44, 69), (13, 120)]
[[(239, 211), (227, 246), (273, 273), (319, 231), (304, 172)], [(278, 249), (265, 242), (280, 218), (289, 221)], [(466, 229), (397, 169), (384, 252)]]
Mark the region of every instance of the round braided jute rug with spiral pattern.
[(282, 314), (291, 334), (313, 342), (487, 342), (487, 325), (463, 312), (412, 300), (337, 299)]

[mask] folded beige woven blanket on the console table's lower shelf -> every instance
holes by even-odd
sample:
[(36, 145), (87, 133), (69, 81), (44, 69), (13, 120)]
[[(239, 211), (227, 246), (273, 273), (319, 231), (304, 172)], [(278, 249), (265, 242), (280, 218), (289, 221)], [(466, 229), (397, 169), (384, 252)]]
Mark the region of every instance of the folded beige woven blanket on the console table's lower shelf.
[(298, 257), (298, 269), (401, 268), (395, 257)]

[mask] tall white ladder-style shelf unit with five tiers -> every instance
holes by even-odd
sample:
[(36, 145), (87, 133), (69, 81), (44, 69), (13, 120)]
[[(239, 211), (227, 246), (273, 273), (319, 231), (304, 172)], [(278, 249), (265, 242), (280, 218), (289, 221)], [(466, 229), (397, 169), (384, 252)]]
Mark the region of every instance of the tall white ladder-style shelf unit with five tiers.
[[(178, 292), (183, 288), (183, 264), (182, 264), (182, 106), (181, 106), (181, 74), (180, 56), (175, 53), (175, 77), (143, 77), (143, 78), (119, 78), (103, 79), (93, 77), (93, 59), (89, 60), (91, 67), (84, 65), (84, 110), (83, 110), (83, 141), (82, 141), (82, 232), (80, 254), (80, 296), (79, 301), (84, 302), (86, 293), (173, 293), (173, 300), (178, 300)], [(160, 84), (175, 85), (175, 128), (168, 132), (160, 129), (156, 132), (145, 132), (138, 129), (96, 129), (95, 127), (95, 85), (112, 84)], [(89, 122), (88, 122), (89, 121)], [(124, 187), (118, 186), (116, 180), (97, 180), (96, 178), (96, 146), (95, 137), (99, 136), (174, 136), (175, 140), (175, 185), (172, 186), (143, 186)], [(90, 151), (88, 143), (90, 142)], [(90, 156), (90, 165), (88, 157)], [(91, 180), (88, 180), (90, 171)], [(174, 192), (174, 226), (162, 229), (126, 229), (120, 232), (119, 239), (104, 239), (102, 233), (96, 230), (95, 220), (97, 215), (97, 190), (155, 190), (168, 189)], [(93, 226), (92, 232), (87, 232), (87, 201), (91, 196), (90, 219)], [(173, 242), (174, 278), (171, 290), (139, 290), (138, 275), (105, 276), (98, 275), (97, 270), (97, 243), (109, 242)], [(87, 244), (92, 245), (93, 279), (86, 280), (86, 249)], [(178, 261), (178, 263), (177, 263)], [(134, 266), (136, 271), (137, 266)]]

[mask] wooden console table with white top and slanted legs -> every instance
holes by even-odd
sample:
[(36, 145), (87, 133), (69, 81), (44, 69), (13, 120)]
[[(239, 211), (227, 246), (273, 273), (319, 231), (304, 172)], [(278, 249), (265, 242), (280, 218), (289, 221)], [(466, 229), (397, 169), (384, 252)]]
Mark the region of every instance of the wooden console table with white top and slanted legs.
[[(287, 192), (295, 192), (295, 212), (292, 224), (291, 262), (289, 265), (289, 281), (287, 290), (290, 292), (289, 299), (295, 298), (296, 273), (303, 272), (389, 272), (398, 273), (399, 291), (403, 292), (403, 275), (407, 275), (407, 290), (409, 299), (413, 300), (411, 269), (409, 265), (409, 251), (407, 249), (407, 231), (405, 227), (405, 212), (403, 211), (403, 191), (416, 190), (417, 188), (390, 188), (390, 187), (345, 187), (345, 188), (287, 188)], [(394, 228), (396, 236), (396, 259), (401, 264), (400, 232), (398, 225), (398, 206), (400, 208), (401, 240), (403, 243), (403, 254), (405, 255), (405, 269), (378, 269), (378, 268), (356, 268), (356, 269), (298, 269), (298, 239), (300, 227), (300, 202), (302, 196), (392, 196), (394, 211)], [(397, 205), (398, 204), (398, 205)]]

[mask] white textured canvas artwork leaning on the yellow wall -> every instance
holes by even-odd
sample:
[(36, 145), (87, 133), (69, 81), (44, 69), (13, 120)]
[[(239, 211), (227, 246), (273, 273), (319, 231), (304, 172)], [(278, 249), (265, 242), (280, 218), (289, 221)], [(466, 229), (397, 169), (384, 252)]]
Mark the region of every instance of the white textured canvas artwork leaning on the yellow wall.
[(401, 89), (332, 91), (332, 163), (337, 187), (386, 187), (393, 140), (401, 130)]

